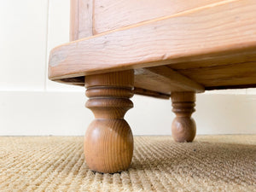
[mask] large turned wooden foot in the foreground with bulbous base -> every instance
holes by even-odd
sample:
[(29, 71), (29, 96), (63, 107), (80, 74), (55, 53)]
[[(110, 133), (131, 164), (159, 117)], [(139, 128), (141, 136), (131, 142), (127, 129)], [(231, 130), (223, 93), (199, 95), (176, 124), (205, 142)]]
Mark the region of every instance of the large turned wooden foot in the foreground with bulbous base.
[(86, 107), (95, 119), (85, 133), (84, 155), (93, 171), (120, 172), (131, 164), (133, 137), (124, 115), (133, 107), (133, 84), (133, 70), (85, 77)]

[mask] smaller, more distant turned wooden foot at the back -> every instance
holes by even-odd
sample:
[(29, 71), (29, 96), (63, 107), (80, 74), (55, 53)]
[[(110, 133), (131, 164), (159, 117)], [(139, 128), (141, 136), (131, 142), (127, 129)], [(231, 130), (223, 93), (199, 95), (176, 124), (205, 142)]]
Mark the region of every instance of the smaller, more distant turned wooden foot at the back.
[(172, 112), (176, 118), (172, 121), (172, 137), (176, 142), (192, 142), (195, 138), (195, 120), (191, 114), (195, 112), (195, 92), (173, 92)]

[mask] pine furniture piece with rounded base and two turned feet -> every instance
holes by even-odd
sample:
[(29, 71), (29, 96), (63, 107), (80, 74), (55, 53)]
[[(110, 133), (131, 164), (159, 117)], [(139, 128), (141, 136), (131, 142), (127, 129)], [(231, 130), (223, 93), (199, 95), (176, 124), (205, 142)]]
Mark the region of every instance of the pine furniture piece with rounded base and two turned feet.
[(87, 165), (126, 170), (133, 94), (172, 99), (172, 137), (195, 138), (195, 94), (256, 87), (254, 0), (71, 0), (70, 43), (52, 49), (49, 79), (81, 85), (95, 114)]

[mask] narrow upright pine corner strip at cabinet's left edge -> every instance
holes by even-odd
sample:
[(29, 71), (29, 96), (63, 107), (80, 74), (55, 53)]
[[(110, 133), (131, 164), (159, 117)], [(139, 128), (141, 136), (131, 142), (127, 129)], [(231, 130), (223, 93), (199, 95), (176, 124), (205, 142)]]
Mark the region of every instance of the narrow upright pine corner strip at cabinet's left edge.
[(93, 0), (70, 0), (70, 41), (92, 36)]

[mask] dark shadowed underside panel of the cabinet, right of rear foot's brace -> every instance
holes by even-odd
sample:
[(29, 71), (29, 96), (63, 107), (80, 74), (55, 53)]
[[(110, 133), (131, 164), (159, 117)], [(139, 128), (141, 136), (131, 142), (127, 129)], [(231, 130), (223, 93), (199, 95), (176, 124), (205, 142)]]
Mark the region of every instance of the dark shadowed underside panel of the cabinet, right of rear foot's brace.
[[(256, 85), (256, 62), (179, 70), (179, 73), (206, 86), (207, 90), (253, 87)], [(254, 85), (253, 85), (254, 84)], [(236, 85), (236, 86), (235, 86)]]

